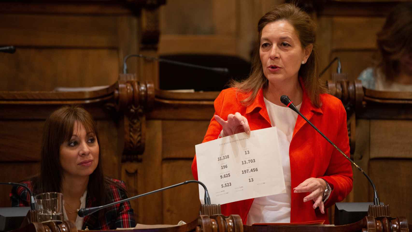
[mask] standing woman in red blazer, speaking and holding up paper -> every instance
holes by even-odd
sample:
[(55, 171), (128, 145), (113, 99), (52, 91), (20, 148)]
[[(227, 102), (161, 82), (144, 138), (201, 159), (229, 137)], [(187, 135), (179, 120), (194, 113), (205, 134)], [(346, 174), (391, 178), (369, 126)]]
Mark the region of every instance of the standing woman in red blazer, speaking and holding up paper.
[[(346, 111), (339, 99), (326, 94), (318, 78), (316, 25), (310, 16), (294, 5), (278, 5), (262, 16), (258, 32), (259, 44), (250, 76), (243, 82), (232, 82), (232, 88), (223, 90), (216, 98), (215, 115), (203, 142), (276, 126), (269, 117), (276, 112), (268, 114), (268, 104), (275, 105), (276, 111), (285, 106), (280, 96), (287, 95), (312, 124), (349, 155)], [(277, 119), (276, 124), (287, 124), (283, 120)], [(290, 214), (292, 223), (311, 220), (328, 223), (325, 208), (342, 201), (352, 189), (351, 164), (302, 117), (289, 126), (293, 131), (286, 154), (290, 159), (290, 201), (284, 210)], [(192, 172), (197, 179), (196, 156)], [(246, 224), (253, 201), (224, 204), (222, 213), (239, 214)], [(277, 203), (270, 204), (275, 204), (276, 209)], [(278, 222), (270, 215), (266, 217), (266, 212), (266, 209), (258, 212), (264, 218), (258, 222)], [(257, 214), (256, 210), (253, 214)]]

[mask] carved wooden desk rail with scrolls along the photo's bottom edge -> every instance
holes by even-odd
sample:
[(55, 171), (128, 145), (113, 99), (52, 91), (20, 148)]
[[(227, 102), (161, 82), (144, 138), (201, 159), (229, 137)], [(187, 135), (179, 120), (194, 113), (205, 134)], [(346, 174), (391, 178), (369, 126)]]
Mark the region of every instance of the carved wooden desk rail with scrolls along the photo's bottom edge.
[[(239, 215), (201, 215), (190, 223), (150, 229), (151, 232), (409, 232), (405, 217), (365, 217), (348, 225), (243, 225)], [(104, 231), (104, 230), (102, 230)], [(147, 229), (124, 229), (124, 232), (147, 232)], [(77, 232), (73, 222), (30, 223), (14, 232)]]

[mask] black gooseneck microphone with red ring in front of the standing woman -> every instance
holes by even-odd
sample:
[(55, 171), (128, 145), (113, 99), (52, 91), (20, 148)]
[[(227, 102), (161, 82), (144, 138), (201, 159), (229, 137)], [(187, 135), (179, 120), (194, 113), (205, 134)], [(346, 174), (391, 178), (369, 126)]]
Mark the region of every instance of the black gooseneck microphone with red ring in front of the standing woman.
[(283, 104), (285, 104), (286, 106), (288, 106), (289, 108), (291, 108), (293, 111), (297, 112), (297, 114), (300, 115), (300, 117), (302, 117), (306, 122), (308, 122), (316, 131), (319, 132), (319, 134), (321, 134), (323, 136), (323, 138), (325, 138), (330, 144), (332, 144), (332, 146), (334, 146), (336, 148), (336, 150), (338, 150), (347, 160), (349, 160), (357, 169), (359, 169), (359, 171), (361, 171), (361, 173), (363, 175), (366, 176), (366, 178), (368, 178), (370, 184), (372, 185), (373, 188), (373, 192), (374, 192), (374, 196), (373, 196), (373, 204), (374, 205), (379, 205), (379, 197), (378, 197), (378, 192), (376, 191), (376, 187), (375, 184), (373, 183), (372, 179), (368, 176), (368, 174), (365, 173), (365, 171), (363, 171), (363, 169), (358, 166), (358, 164), (356, 164), (355, 162), (353, 162), (353, 160), (351, 160), (347, 155), (345, 155), (344, 152), (342, 152), (342, 150), (340, 150), (334, 143), (332, 143), (332, 141), (330, 141), (330, 139), (328, 137), (326, 137), (321, 131), (318, 130), (318, 128), (316, 128), (314, 126), (314, 124), (312, 124), (309, 120), (307, 120), (306, 117), (304, 117), (302, 115), (302, 113), (297, 110), (297, 108), (295, 107), (295, 105), (292, 103), (292, 101), (290, 101), (289, 97), (286, 95), (282, 95), (281, 96), (281, 102)]

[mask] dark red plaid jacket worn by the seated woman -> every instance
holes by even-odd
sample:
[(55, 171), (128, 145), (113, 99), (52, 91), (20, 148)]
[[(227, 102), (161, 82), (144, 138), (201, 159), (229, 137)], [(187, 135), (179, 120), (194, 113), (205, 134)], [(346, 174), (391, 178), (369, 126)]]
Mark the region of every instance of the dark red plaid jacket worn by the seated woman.
[[(116, 179), (112, 180), (120, 183), (123, 187), (126, 187), (123, 181)], [(27, 185), (27, 187), (33, 191), (32, 181), (23, 181), (21, 183)], [(126, 192), (116, 185), (112, 184), (109, 188), (108, 203), (117, 202), (127, 198)], [(28, 194), (28, 191), (21, 186), (13, 186), (12, 192), (10, 193), (10, 199), (12, 201), (12, 207), (30, 206), (30, 195)], [(91, 205), (92, 201), (89, 194), (87, 194), (86, 208), (91, 207)], [(97, 212), (85, 216), (82, 230), (85, 230), (86, 227), (89, 230), (115, 230), (116, 228), (131, 228), (136, 226), (133, 217), (133, 209), (131, 209), (129, 202), (116, 204), (102, 210), (105, 210), (105, 213), (101, 217), (99, 217), (99, 213)]]

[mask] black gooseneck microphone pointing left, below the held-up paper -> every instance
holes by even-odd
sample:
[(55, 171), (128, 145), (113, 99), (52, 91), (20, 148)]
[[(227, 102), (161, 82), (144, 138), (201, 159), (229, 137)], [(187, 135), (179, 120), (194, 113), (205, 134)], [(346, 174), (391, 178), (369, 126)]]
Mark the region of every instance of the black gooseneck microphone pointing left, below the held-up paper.
[(154, 191), (152, 191), (152, 192), (143, 193), (143, 194), (140, 194), (140, 195), (137, 195), (137, 196), (134, 196), (134, 197), (130, 197), (130, 198), (127, 198), (127, 199), (118, 201), (118, 202), (113, 202), (113, 203), (110, 203), (110, 204), (106, 204), (106, 205), (104, 205), (104, 206), (96, 206), (96, 207), (90, 207), (90, 208), (83, 208), (83, 209), (80, 209), (80, 210), (77, 212), (77, 215), (78, 215), (79, 217), (83, 218), (83, 217), (85, 217), (85, 216), (87, 216), (87, 215), (89, 215), (89, 214), (92, 214), (92, 213), (94, 213), (94, 212), (96, 212), (96, 211), (98, 211), (98, 210), (104, 209), (104, 208), (106, 208), (106, 207), (109, 207), (109, 206), (112, 206), (112, 205), (115, 205), (115, 204), (120, 204), (120, 203), (123, 203), (123, 202), (128, 202), (129, 200), (132, 200), (132, 199), (136, 199), (136, 198), (139, 198), (139, 197), (143, 197), (143, 196), (146, 196), (146, 195), (150, 195), (150, 194), (155, 193), (155, 192), (161, 192), (161, 191), (163, 191), (163, 190), (166, 190), (166, 189), (169, 189), (169, 188), (173, 188), (173, 187), (177, 187), (177, 186), (180, 186), (180, 185), (185, 185), (185, 184), (188, 184), (188, 183), (199, 183), (199, 185), (202, 185), (203, 188), (204, 188), (204, 190), (205, 190), (205, 196), (204, 196), (205, 204), (207, 204), (207, 205), (210, 205), (210, 204), (211, 204), (211, 203), (210, 203), (209, 192), (208, 192), (208, 190), (207, 190), (207, 188), (206, 188), (206, 185), (204, 185), (204, 183), (201, 183), (199, 180), (186, 180), (185, 182), (178, 183), (178, 184), (176, 184), (176, 185), (171, 185), (171, 186), (169, 186), (169, 187), (164, 187), (164, 188), (161, 188), (161, 189), (158, 189), (158, 190), (154, 190)]

